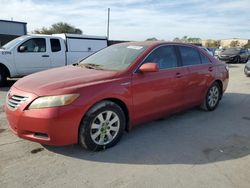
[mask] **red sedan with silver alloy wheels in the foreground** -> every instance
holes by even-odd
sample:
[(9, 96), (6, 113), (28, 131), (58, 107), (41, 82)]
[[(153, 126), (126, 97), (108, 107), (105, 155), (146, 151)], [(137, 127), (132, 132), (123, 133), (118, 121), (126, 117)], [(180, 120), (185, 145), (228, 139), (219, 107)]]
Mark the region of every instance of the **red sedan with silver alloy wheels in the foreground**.
[(194, 106), (214, 110), (227, 85), (226, 65), (196, 46), (123, 43), (20, 79), (5, 112), (21, 138), (102, 150), (139, 123)]

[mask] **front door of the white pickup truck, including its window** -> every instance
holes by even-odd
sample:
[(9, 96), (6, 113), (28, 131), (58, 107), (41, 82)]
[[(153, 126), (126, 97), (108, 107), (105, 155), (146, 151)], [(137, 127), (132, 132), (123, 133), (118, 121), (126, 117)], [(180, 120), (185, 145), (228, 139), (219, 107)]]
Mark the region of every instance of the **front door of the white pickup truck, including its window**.
[[(28, 75), (51, 67), (48, 41), (46, 40), (46, 38), (31, 38), (17, 47), (15, 64), (19, 75)], [(21, 46), (26, 49), (20, 51)]]

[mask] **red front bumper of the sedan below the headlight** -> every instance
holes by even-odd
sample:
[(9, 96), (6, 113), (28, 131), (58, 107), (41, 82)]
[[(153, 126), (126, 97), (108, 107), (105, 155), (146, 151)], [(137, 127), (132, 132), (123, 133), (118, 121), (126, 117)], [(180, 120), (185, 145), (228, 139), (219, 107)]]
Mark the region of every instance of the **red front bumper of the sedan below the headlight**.
[(9, 127), (18, 137), (47, 145), (69, 145), (78, 142), (78, 128), (82, 119), (82, 108), (68, 105), (44, 109), (28, 110), (29, 104), (38, 96), (26, 93), (15, 87), (15, 95), (28, 99), (17, 109), (5, 105)]

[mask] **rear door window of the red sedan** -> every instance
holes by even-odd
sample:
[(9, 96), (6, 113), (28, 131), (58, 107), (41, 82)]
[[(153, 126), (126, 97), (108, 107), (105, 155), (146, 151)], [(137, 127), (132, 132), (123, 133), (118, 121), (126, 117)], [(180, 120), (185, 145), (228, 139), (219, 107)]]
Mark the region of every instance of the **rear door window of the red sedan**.
[(200, 56), (197, 50), (187, 46), (180, 46), (179, 49), (183, 66), (201, 64)]

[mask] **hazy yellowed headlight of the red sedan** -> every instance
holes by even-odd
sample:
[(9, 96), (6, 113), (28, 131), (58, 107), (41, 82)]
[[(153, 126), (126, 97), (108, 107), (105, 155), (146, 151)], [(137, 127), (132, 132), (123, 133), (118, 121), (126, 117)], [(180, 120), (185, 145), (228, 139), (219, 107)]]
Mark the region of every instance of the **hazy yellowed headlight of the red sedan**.
[(79, 94), (39, 97), (31, 103), (29, 109), (65, 106), (71, 104), (78, 97)]

